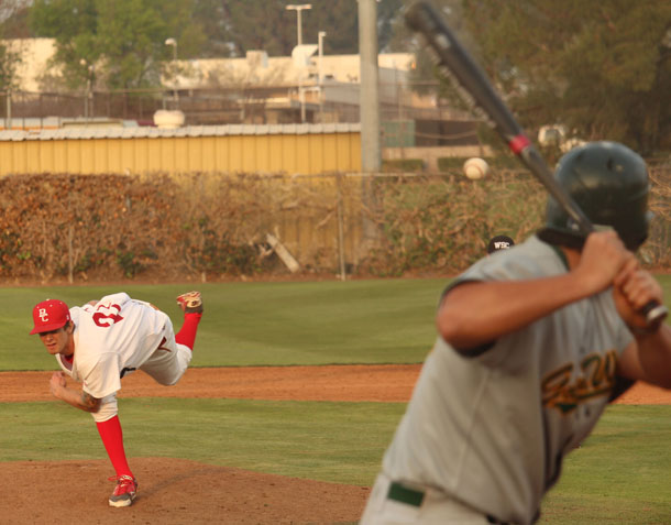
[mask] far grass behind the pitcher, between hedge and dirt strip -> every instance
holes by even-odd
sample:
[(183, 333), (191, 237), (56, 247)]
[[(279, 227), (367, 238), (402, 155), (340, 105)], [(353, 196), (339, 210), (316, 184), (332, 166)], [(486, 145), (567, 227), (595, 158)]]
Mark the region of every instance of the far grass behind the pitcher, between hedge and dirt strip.
[[(435, 337), (447, 280), (219, 283), (198, 286), (205, 315), (193, 367), (417, 363)], [(190, 286), (190, 285), (189, 285)], [(0, 370), (50, 370), (54, 360), (29, 337), (33, 306), (68, 305), (124, 291), (182, 325), (175, 297), (185, 286), (0, 288)]]

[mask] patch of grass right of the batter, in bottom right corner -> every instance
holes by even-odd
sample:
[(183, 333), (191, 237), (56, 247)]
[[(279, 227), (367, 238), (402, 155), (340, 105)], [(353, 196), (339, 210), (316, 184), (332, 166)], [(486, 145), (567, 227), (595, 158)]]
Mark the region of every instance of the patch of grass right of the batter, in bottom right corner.
[(542, 524), (671, 523), (671, 406), (609, 406), (564, 463)]

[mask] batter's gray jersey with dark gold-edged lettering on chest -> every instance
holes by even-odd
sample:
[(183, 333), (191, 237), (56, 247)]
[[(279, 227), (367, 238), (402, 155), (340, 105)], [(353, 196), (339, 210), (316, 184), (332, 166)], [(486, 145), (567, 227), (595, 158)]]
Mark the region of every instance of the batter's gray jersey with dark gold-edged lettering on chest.
[[(479, 261), (457, 283), (566, 271), (563, 255), (532, 237)], [(617, 358), (630, 341), (610, 289), (472, 357), (439, 337), (383, 471), (393, 480), (439, 489), (498, 519), (532, 523), (563, 457), (606, 407)]]

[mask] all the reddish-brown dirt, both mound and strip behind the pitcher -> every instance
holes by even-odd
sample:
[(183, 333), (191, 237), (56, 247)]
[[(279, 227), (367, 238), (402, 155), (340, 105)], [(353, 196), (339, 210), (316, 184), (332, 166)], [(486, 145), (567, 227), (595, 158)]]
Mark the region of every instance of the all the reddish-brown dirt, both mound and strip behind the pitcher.
[[(142, 373), (124, 379), (120, 397), (407, 402), (420, 365), (251, 367), (190, 369), (172, 387)], [(53, 400), (52, 372), (0, 372), (0, 402)], [(671, 392), (635, 385), (618, 403), (671, 404)], [(6, 523), (129, 524), (353, 523), (367, 488), (215, 467), (182, 459), (133, 458), (140, 491), (130, 508), (110, 508), (107, 461), (22, 461), (0, 464), (12, 497), (0, 502)], [(54, 481), (54, 480), (57, 480)]]

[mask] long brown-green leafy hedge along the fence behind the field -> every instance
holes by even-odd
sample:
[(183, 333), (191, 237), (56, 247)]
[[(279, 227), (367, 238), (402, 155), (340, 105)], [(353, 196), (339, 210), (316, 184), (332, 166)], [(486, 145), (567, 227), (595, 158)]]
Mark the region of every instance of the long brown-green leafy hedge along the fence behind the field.
[[(442, 165), (461, 169), (462, 162)], [(640, 255), (668, 269), (671, 169), (653, 166), (650, 177), (654, 220)], [(492, 169), (476, 182), (461, 171), (8, 176), (0, 178), (0, 282), (286, 273), (268, 233), (304, 273), (344, 265), (361, 275), (451, 274), (482, 256), (495, 234), (528, 237), (542, 222), (546, 199), (540, 183), (517, 168)]]

